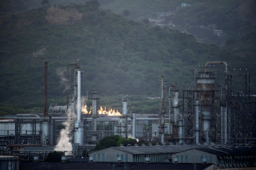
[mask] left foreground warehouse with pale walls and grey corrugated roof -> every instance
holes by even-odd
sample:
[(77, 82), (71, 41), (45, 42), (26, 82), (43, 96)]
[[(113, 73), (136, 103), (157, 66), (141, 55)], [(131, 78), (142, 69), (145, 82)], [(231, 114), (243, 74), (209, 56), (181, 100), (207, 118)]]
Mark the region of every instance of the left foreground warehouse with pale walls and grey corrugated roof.
[(174, 153), (199, 148), (200, 145), (110, 147), (90, 153), (94, 162), (169, 162)]

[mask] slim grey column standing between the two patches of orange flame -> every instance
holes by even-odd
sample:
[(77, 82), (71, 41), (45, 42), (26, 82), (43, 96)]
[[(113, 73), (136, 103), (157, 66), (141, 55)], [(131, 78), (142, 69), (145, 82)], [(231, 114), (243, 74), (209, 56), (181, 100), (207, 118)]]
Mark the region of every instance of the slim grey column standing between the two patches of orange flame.
[(96, 141), (97, 139), (97, 92), (95, 90), (92, 91), (92, 94), (91, 94), (91, 99), (92, 99), (92, 102), (93, 102), (93, 108), (92, 108), (92, 129), (93, 129), (93, 132), (92, 132), (92, 137), (91, 137), (91, 140), (92, 141)]

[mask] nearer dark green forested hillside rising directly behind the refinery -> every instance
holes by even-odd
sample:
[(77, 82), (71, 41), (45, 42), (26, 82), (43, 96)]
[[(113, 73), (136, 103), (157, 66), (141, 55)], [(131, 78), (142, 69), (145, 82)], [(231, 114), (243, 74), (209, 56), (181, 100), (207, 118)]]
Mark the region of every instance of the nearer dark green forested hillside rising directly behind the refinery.
[[(96, 1), (32, 9), (2, 16), (0, 23), (0, 102), (15, 107), (43, 106), (46, 61), (49, 101), (65, 104), (66, 66), (80, 59), (84, 89), (95, 88), (106, 105), (116, 105), (126, 94), (131, 101), (159, 96), (162, 74), (168, 87), (185, 87), (194, 81), (194, 68), (209, 60), (247, 64), (246, 58), (198, 43), (192, 35), (100, 10)], [(134, 105), (138, 112), (158, 110), (151, 101)]]

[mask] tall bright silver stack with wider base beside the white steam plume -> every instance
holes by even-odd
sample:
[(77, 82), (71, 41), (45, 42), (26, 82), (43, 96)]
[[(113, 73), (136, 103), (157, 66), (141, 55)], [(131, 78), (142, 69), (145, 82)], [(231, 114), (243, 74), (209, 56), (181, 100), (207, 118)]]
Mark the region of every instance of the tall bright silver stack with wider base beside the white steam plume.
[(81, 71), (77, 72), (77, 122), (75, 122), (74, 143), (84, 144), (83, 123), (81, 121)]

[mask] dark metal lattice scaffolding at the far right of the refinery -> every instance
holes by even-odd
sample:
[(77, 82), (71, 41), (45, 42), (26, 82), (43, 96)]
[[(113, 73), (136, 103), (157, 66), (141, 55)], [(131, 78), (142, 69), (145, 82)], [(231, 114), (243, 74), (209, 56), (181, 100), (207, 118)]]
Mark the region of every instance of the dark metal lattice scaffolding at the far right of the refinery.
[(250, 75), (227, 74), (227, 141), (247, 144), (256, 141), (256, 98), (251, 93)]

